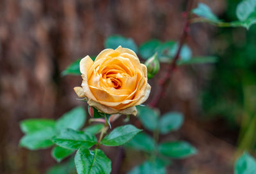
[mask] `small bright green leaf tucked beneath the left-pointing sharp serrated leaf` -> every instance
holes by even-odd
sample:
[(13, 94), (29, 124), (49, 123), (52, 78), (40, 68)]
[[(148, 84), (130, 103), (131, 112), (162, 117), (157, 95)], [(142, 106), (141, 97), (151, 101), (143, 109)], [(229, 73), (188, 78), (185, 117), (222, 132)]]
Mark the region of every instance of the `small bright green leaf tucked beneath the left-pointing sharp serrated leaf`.
[(70, 156), (73, 152), (74, 150), (65, 149), (63, 147), (56, 146), (52, 149), (51, 155), (54, 159), (56, 159), (57, 162), (60, 162), (63, 159), (65, 159), (65, 157)]

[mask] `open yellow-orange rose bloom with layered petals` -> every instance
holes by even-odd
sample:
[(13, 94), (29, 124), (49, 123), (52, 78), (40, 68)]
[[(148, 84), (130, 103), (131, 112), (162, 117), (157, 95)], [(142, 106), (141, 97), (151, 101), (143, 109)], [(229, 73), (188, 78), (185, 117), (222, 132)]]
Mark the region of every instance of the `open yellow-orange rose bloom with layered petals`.
[(93, 62), (87, 55), (80, 61), (82, 87), (74, 91), (103, 113), (136, 115), (136, 105), (150, 94), (147, 67), (128, 48), (105, 49)]

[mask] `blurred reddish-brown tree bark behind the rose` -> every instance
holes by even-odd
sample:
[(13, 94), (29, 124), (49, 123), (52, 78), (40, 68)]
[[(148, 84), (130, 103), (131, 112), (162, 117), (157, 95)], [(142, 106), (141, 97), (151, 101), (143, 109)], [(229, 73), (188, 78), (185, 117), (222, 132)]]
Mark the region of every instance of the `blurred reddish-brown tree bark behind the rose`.
[[(225, 1), (204, 2), (216, 13), (225, 10)], [(50, 150), (33, 152), (18, 147), (22, 137), (19, 122), (29, 118), (58, 119), (72, 107), (83, 105), (76, 100), (73, 91), (73, 87), (81, 84), (81, 77), (60, 76), (68, 64), (86, 55), (99, 54), (104, 49), (105, 38), (111, 34), (133, 38), (138, 44), (151, 38), (178, 40), (184, 25), (181, 13), (185, 4), (186, 1), (183, 0), (1, 0), (0, 173), (41, 174), (55, 164)], [(194, 55), (209, 52), (209, 30), (212, 31), (212, 27), (195, 25), (191, 28), (192, 35), (188, 45), (193, 49)], [(165, 68), (166, 65), (163, 64), (161, 71)], [(186, 117), (193, 118), (200, 112), (200, 106), (196, 102), (198, 91), (204, 86), (211, 66), (196, 66), (194, 70), (194, 76), (187, 73), (186, 68), (175, 72), (172, 80), (175, 85), (168, 87), (168, 97), (159, 105), (163, 113), (180, 110)], [(157, 90), (156, 82), (161, 75), (160, 72), (156, 80), (150, 80), (152, 93)], [(194, 136), (200, 135), (191, 132), (187, 134), (191, 129), (196, 132), (197, 128), (188, 128), (191, 126), (188, 124), (189, 118), (186, 122), (184, 129), (176, 137), (193, 141)], [(203, 135), (200, 136), (202, 141)], [(163, 140), (168, 138), (170, 137), (163, 137)], [(209, 141), (217, 140), (212, 138)], [(201, 152), (205, 152), (204, 156), (199, 154), (195, 159), (178, 161), (170, 172), (229, 173), (230, 165), (225, 163), (221, 166), (217, 152), (212, 152), (212, 155), (209, 149), (204, 149), (207, 148), (207, 143), (202, 143)], [(225, 142), (223, 146), (223, 149), (229, 148)], [(115, 154), (116, 149), (108, 150), (107, 154), (115, 157), (111, 154)], [(232, 154), (232, 150), (229, 151), (226, 152), (227, 156)], [(211, 159), (212, 156), (215, 158)], [(128, 163), (127, 159), (129, 154), (124, 163)], [(202, 171), (196, 167), (199, 163), (206, 163)], [(122, 166), (120, 172), (129, 170), (132, 167), (129, 165), (131, 164)], [(217, 169), (209, 170), (211, 166)]]

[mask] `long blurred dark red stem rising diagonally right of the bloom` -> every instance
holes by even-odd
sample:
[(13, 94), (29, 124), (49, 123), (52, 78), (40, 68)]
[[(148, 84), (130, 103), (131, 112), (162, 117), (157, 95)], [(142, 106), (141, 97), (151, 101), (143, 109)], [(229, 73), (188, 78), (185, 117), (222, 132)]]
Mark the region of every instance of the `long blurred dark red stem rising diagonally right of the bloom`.
[(177, 61), (180, 57), (180, 50), (182, 48), (182, 45), (186, 41), (186, 38), (188, 37), (188, 33), (189, 33), (189, 24), (190, 24), (189, 17), (190, 17), (190, 11), (192, 9), (192, 5), (193, 5), (193, 0), (188, 0), (187, 9), (184, 12), (184, 15), (186, 16), (186, 22), (182, 31), (182, 35), (180, 36), (178, 50), (173, 58), (172, 63), (170, 63), (170, 65), (168, 66), (168, 70), (166, 74), (163, 76), (162, 79), (159, 80), (159, 90), (157, 91), (157, 94), (155, 94), (152, 101), (149, 103), (149, 106), (151, 107), (155, 107), (159, 102), (159, 100), (163, 98), (164, 91), (166, 91), (168, 82), (170, 82), (170, 76), (172, 74), (172, 71), (174, 71), (177, 66)]

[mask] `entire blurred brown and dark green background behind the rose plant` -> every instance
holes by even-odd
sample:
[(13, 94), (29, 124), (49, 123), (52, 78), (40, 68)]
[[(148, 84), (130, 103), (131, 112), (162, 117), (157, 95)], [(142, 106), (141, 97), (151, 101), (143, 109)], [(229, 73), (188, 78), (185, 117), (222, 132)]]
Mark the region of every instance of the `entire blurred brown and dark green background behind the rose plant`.
[[(239, 0), (194, 1), (193, 6), (198, 2), (226, 21), (237, 20)], [(183, 0), (1, 0), (0, 173), (41, 174), (56, 164), (50, 149), (19, 147), (19, 122), (58, 119), (74, 106), (86, 107), (73, 91), (81, 77), (60, 75), (68, 64), (99, 54), (111, 34), (133, 38), (138, 45), (152, 38), (177, 41), (185, 8)], [(243, 149), (255, 152), (255, 34), (255, 25), (250, 31), (191, 25), (187, 43), (193, 55), (216, 55), (219, 61), (177, 69), (166, 98), (157, 105), (161, 113), (177, 110), (185, 115), (180, 131), (160, 140), (179, 138), (198, 149), (196, 156), (173, 161), (168, 173), (233, 173), (236, 154)], [(161, 64), (149, 81), (150, 98), (165, 68)], [(109, 148), (106, 154), (114, 160), (116, 152)], [(139, 154), (125, 152), (119, 173), (140, 163), (134, 156)]]

